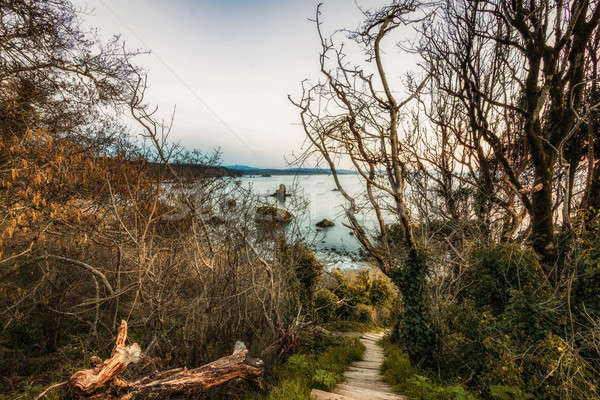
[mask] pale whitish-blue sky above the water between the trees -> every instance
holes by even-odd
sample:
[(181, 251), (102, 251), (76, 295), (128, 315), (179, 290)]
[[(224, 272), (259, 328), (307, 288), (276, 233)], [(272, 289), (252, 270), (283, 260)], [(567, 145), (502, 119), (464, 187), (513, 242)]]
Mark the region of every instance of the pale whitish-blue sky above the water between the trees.
[[(359, 25), (357, 7), (384, 0), (323, 0), (326, 32)], [(101, 38), (120, 34), (149, 50), (149, 103), (168, 118), (170, 140), (188, 149), (219, 148), (223, 165), (284, 168), (304, 142), (288, 101), (318, 77), (315, 0), (74, 0), (84, 26)], [(132, 129), (136, 127), (132, 124)], [(311, 166), (311, 165), (307, 165)]]

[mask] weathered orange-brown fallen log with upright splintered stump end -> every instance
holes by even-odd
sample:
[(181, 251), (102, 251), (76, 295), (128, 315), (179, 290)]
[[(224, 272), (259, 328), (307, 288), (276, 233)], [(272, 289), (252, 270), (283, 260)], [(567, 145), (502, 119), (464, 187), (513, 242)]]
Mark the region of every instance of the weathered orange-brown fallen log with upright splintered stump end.
[(118, 378), (129, 364), (138, 362), (142, 352), (137, 343), (126, 346), (127, 322), (121, 322), (115, 348), (110, 358), (95, 367), (78, 371), (67, 384), (70, 393), (77, 399), (136, 399), (144, 397), (167, 397), (172, 394), (203, 392), (235, 378), (262, 383), (264, 363), (248, 355), (242, 342), (236, 342), (233, 354), (198, 368), (175, 368), (155, 371), (135, 381)]

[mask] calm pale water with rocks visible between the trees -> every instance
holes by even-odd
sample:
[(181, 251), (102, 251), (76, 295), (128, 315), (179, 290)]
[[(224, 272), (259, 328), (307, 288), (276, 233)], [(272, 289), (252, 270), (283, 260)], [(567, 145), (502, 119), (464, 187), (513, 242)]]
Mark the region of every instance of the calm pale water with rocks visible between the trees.
[[(358, 175), (340, 175), (339, 179), (348, 193), (358, 198), (363, 196), (364, 186)], [(348, 223), (343, 209), (345, 199), (334, 190), (335, 182), (331, 175), (244, 176), (239, 181), (242, 186), (250, 187), (262, 201), (292, 212), (317, 256), (331, 267), (364, 266), (364, 262), (360, 261), (360, 244), (350, 234), (350, 229), (343, 225)], [(287, 192), (292, 194), (285, 202), (270, 196), (280, 184), (284, 184)], [(335, 226), (316, 227), (315, 224), (324, 218), (333, 221)], [(360, 214), (359, 220), (367, 228), (375, 227), (372, 214)]]

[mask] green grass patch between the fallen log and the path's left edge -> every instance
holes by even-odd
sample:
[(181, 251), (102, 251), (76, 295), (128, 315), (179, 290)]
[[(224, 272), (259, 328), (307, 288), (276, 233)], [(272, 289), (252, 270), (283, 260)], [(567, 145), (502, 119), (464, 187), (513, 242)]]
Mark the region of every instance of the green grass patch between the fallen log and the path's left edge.
[(313, 388), (331, 391), (344, 380), (350, 364), (362, 359), (364, 350), (358, 338), (322, 336), (287, 360), (267, 399), (309, 400)]

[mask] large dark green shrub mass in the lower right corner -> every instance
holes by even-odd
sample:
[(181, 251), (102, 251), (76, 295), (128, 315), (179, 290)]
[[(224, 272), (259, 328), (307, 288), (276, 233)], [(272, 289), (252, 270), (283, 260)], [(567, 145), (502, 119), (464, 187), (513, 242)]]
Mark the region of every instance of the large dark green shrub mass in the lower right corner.
[(498, 399), (596, 398), (598, 355), (565, 339), (566, 293), (550, 290), (532, 251), (491, 245), (469, 261), (465, 293), (441, 305), (444, 379), (472, 376), (472, 388)]

